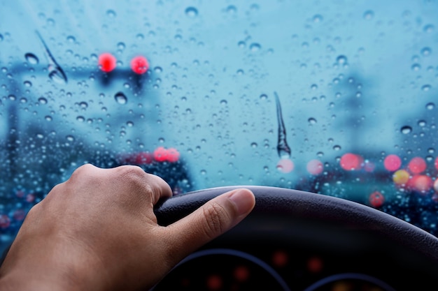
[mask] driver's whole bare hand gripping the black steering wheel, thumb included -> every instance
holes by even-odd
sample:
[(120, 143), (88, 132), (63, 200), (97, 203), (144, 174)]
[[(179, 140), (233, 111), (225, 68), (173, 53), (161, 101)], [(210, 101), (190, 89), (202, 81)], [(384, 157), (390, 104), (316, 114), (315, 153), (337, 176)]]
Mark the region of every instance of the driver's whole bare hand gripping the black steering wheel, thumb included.
[(83, 165), (27, 214), (0, 268), (0, 290), (139, 290), (226, 232), (255, 205), (239, 189), (167, 227), (154, 205), (164, 180), (140, 167)]

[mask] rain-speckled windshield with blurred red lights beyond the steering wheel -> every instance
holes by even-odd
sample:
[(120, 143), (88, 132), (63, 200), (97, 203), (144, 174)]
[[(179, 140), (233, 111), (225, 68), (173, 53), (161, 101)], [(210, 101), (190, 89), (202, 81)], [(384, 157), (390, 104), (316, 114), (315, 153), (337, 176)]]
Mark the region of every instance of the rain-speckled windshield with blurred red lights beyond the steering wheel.
[(436, 1), (0, 1), (0, 240), (83, 163), (437, 234)]

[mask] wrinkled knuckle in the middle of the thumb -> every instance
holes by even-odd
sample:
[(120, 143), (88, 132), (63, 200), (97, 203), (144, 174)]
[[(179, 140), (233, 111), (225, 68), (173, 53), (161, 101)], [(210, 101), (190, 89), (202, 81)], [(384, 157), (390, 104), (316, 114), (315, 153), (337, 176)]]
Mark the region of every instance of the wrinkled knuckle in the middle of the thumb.
[(218, 236), (227, 228), (228, 214), (224, 207), (213, 202), (204, 208), (204, 232), (210, 239)]

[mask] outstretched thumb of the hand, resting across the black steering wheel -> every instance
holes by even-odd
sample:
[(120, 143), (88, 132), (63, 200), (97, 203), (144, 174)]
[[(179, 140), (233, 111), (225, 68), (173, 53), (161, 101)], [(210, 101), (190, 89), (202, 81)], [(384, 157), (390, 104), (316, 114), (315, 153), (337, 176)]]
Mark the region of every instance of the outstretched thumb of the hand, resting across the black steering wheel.
[[(248, 189), (235, 189), (214, 197), (188, 216), (167, 226), (169, 247), (177, 260), (184, 258), (243, 220), (255, 206)], [(176, 258), (179, 257), (179, 258)]]

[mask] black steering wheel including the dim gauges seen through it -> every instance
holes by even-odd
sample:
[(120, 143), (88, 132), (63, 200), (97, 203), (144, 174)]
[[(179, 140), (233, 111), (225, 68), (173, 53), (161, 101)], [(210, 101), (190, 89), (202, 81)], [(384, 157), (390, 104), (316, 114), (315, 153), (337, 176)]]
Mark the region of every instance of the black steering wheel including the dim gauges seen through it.
[(438, 238), (383, 211), (338, 197), (269, 186), (176, 195), (161, 225), (234, 188), (255, 194), (239, 225), (180, 262), (153, 290), (429, 290)]

